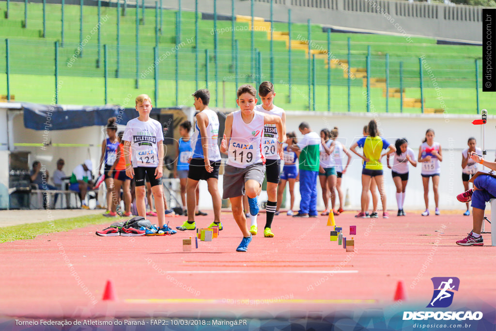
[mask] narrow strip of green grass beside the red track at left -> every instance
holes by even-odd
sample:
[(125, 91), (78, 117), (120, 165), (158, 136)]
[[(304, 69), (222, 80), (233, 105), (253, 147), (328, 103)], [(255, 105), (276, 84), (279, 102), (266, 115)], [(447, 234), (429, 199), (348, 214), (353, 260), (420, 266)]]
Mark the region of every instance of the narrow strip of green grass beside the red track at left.
[(0, 243), (14, 240), (34, 239), (41, 234), (69, 231), (91, 224), (102, 224), (105, 223), (106, 220), (108, 221), (107, 218), (101, 215), (91, 215), (31, 223), (29, 226), (26, 226), (26, 224), (7, 226), (1, 228)]

